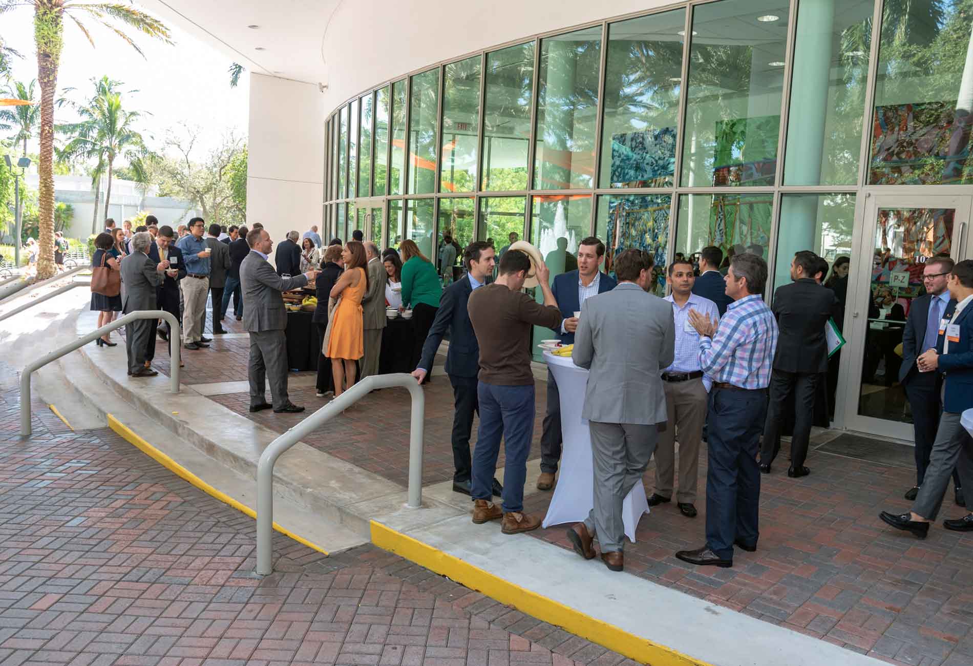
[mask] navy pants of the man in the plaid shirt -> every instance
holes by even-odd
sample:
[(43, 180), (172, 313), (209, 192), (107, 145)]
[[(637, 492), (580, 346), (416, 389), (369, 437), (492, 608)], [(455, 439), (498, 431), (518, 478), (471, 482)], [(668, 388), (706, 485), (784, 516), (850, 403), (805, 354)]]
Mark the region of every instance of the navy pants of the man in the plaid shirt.
[(767, 392), (713, 387), (709, 392), (706, 546), (733, 559), (734, 540), (756, 545), (760, 504), (757, 448)]

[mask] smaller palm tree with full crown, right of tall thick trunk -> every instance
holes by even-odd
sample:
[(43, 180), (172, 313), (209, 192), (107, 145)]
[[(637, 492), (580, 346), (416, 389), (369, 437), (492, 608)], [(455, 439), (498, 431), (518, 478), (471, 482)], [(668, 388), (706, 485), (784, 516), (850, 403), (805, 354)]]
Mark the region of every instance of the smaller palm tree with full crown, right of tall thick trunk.
[[(138, 111), (126, 111), (122, 108), (122, 92), (117, 90), (121, 84), (112, 81), (107, 76), (93, 80), (94, 96), (89, 102), (78, 109), (81, 121), (62, 125), (58, 128), (73, 138), (68, 141), (61, 156), (66, 160), (81, 158), (95, 160), (95, 181), (102, 172), (108, 179), (108, 189), (105, 192), (105, 212), (112, 201), (112, 173), (115, 159), (125, 156), (127, 160), (134, 160), (146, 152), (142, 135), (134, 129), (141, 114)], [(95, 186), (97, 187), (97, 186)], [(97, 207), (97, 194), (95, 194)]]

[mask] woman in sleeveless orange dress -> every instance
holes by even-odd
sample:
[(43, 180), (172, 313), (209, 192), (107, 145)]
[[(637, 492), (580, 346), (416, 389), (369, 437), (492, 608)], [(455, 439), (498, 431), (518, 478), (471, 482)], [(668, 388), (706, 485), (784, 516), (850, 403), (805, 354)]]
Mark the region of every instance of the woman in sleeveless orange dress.
[[(362, 323), (362, 296), (368, 289), (368, 260), (365, 246), (348, 240), (342, 250), (344, 273), (331, 288), (331, 298), (342, 297), (332, 315), (331, 337), (324, 355), (331, 359), (335, 376), (335, 397), (355, 383), (355, 361), (365, 355), (365, 331)], [(346, 381), (345, 381), (346, 380)]]

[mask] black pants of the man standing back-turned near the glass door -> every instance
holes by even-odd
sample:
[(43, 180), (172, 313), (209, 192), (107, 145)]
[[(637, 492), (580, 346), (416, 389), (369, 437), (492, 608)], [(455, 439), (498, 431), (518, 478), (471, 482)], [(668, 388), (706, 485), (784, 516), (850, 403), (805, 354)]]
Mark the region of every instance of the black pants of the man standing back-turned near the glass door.
[(814, 419), (814, 394), (820, 380), (819, 373), (784, 372), (774, 370), (771, 375), (771, 397), (767, 408), (767, 424), (764, 427), (764, 444), (760, 462), (774, 462), (780, 452), (780, 430), (784, 408), (791, 393), (794, 394), (794, 434), (791, 436), (791, 465), (795, 468), (808, 458), (811, 440), (811, 422)]

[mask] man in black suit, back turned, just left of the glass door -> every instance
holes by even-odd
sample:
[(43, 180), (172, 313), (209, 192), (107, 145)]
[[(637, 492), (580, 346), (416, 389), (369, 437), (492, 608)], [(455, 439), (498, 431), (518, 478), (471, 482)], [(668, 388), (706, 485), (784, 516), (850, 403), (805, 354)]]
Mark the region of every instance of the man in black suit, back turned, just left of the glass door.
[(771, 471), (780, 450), (780, 429), (784, 406), (794, 395), (794, 435), (791, 439), (791, 466), (787, 476), (806, 476), (811, 472), (804, 466), (811, 439), (814, 417), (814, 393), (821, 373), (828, 369), (828, 343), (824, 327), (835, 314), (838, 301), (835, 293), (816, 281), (819, 263), (816, 254), (803, 250), (791, 261), (790, 284), (778, 287), (772, 310), (780, 329), (771, 376), (771, 396), (764, 427), (764, 443), (760, 452), (760, 470)]

